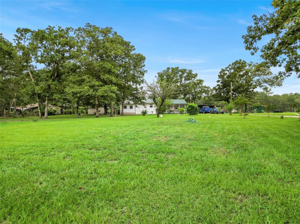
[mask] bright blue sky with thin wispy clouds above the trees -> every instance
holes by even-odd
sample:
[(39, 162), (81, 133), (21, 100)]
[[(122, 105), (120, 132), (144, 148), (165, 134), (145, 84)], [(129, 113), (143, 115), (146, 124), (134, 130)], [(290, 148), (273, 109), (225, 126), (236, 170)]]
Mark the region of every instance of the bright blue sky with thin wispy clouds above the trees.
[[(206, 85), (213, 87), (217, 69), (238, 59), (259, 62), (259, 54), (251, 56), (244, 50), (241, 36), (252, 23), (253, 14), (267, 13), (266, 7), (273, 10), (270, 4), (271, 1), (1, 1), (1, 16), (20, 22), (1, 17), (0, 32), (12, 41), (17, 27), (38, 29), (24, 23), (41, 28), (76, 28), (87, 22), (111, 26), (146, 56), (147, 81), (153, 80), (159, 70), (179, 66), (197, 72)], [(272, 68), (273, 72), (279, 70)], [(299, 83), (292, 76), (283, 86)], [(273, 88), (272, 92), (300, 92), (300, 85)]]

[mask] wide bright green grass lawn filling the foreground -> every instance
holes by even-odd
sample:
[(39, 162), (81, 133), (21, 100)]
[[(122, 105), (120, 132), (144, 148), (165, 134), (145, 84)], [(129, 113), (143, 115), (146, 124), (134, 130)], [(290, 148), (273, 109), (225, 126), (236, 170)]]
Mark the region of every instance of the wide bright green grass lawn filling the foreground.
[(1, 120), (0, 223), (300, 223), (297, 118), (190, 117)]

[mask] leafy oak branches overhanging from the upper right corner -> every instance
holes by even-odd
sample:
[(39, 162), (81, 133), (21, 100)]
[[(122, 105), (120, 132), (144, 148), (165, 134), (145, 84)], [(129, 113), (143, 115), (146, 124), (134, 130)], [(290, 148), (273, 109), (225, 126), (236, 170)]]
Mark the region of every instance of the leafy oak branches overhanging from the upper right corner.
[[(300, 1), (273, 0), (274, 12), (268, 15), (253, 15), (254, 25), (248, 26), (243, 35), (245, 49), (252, 55), (260, 50), (263, 66), (284, 66), (277, 78), (289, 77), (294, 71), (300, 78)], [(257, 43), (265, 36), (271, 36), (267, 44), (259, 48)]]

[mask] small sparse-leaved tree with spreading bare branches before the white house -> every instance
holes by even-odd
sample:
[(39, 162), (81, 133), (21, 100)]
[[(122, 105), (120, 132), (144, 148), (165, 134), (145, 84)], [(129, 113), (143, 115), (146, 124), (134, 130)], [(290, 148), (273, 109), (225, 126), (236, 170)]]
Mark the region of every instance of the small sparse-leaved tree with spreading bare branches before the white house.
[(166, 101), (174, 96), (177, 91), (177, 83), (167, 83), (164, 80), (155, 80), (146, 84), (146, 97), (151, 99), (155, 106), (157, 117), (161, 113), (161, 108), (166, 105)]

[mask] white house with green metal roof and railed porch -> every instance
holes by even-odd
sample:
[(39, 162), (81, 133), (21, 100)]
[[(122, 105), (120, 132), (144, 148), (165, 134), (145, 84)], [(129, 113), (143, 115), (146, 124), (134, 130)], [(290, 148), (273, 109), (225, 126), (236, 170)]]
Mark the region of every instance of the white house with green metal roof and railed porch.
[[(169, 110), (166, 111), (167, 113), (177, 113), (178, 107), (185, 108), (187, 105), (187, 102), (182, 99), (173, 99), (171, 102), (171, 105), (168, 105)], [(120, 108), (122, 108), (122, 103), (120, 103)], [(146, 99), (144, 103), (138, 103), (137, 105), (132, 101), (125, 100), (123, 109), (124, 115), (141, 114), (143, 109), (146, 109), (148, 114), (156, 114), (156, 106), (151, 99)]]

